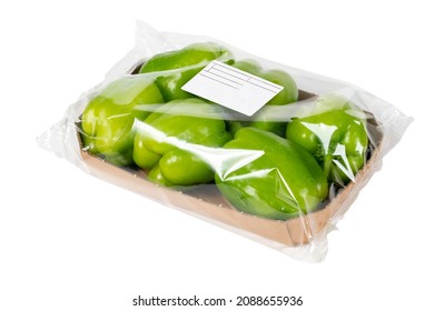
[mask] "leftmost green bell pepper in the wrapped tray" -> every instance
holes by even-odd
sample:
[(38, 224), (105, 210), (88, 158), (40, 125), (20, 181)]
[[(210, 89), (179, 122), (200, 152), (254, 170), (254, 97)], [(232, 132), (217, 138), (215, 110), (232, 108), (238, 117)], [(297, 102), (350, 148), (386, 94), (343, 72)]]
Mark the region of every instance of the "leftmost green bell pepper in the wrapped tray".
[(149, 114), (138, 104), (160, 103), (162, 97), (149, 77), (124, 77), (97, 94), (81, 116), (85, 150), (117, 165), (132, 163), (135, 119)]

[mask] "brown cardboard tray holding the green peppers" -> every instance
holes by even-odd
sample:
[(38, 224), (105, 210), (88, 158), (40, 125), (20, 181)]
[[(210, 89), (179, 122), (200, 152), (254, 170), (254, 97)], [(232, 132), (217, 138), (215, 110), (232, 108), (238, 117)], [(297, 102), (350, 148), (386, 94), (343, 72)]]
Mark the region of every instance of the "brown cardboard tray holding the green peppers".
[[(303, 93), (305, 98), (309, 96), (309, 93)], [(315, 237), (325, 233), (327, 224), (346, 212), (359, 190), (381, 165), (382, 133), (378, 131), (374, 119), (367, 121), (371, 142), (375, 148), (371, 148), (369, 159), (357, 173), (355, 181), (342, 189), (323, 209), (287, 221), (270, 220), (237, 211), (225, 200), (214, 184), (193, 187), (184, 192), (177, 191), (148, 181), (146, 173), (141, 170), (112, 165), (82, 149), (80, 149), (80, 153), (89, 172), (98, 178), (166, 205), (175, 205), (284, 245), (295, 247), (308, 243)], [(79, 134), (78, 139), (80, 140)]]

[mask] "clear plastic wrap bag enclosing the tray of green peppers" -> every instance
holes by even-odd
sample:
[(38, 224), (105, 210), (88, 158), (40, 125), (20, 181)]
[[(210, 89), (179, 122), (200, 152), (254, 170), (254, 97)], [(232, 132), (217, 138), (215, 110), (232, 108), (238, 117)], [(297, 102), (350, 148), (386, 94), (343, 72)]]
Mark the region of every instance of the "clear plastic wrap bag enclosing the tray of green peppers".
[[(136, 41), (40, 146), (294, 258), (322, 260), (327, 233), (412, 119), (357, 87), (215, 39), (138, 22)], [(213, 60), (284, 90), (251, 117), (184, 91)]]

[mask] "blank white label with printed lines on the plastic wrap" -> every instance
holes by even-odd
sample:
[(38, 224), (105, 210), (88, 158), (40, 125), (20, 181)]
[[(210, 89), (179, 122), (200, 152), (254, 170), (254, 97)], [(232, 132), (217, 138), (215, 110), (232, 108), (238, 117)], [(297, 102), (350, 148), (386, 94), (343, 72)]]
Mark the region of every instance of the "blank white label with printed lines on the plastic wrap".
[(210, 62), (183, 90), (247, 116), (254, 114), (284, 88), (219, 61)]

